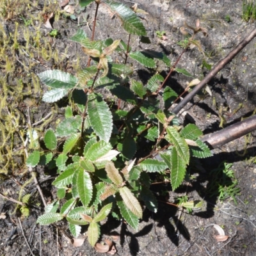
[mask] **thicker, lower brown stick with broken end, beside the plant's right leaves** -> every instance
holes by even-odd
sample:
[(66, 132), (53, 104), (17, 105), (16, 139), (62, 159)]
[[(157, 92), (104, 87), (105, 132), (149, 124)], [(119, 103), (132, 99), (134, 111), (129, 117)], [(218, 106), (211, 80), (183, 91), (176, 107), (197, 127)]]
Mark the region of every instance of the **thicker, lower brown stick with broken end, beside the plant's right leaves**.
[(211, 134), (206, 134), (201, 138), (209, 147), (216, 148), (226, 143), (236, 140), (252, 131), (256, 130), (256, 115), (253, 115), (246, 120), (232, 124), (225, 129), (222, 129)]

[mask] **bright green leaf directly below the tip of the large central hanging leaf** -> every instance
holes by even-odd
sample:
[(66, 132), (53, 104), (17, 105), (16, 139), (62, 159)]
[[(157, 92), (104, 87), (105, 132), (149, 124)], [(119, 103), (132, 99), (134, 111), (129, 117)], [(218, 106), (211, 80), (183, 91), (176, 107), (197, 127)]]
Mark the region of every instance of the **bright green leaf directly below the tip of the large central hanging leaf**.
[(98, 141), (97, 143), (93, 144), (89, 150), (86, 151), (84, 157), (90, 161), (95, 161), (100, 157), (104, 156), (111, 150), (112, 146), (110, 143), (106, 143), (103, 140)]

